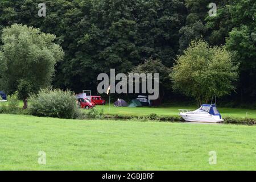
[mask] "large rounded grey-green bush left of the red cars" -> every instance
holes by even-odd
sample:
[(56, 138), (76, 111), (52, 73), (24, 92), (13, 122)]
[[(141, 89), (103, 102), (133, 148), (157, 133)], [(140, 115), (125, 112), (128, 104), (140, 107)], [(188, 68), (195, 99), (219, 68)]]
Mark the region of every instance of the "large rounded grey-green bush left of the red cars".
[(73, 119), (80, 117), (76, 97), (71, 91), (42, 89), (30, 97), (28, 113), (40, 117)]

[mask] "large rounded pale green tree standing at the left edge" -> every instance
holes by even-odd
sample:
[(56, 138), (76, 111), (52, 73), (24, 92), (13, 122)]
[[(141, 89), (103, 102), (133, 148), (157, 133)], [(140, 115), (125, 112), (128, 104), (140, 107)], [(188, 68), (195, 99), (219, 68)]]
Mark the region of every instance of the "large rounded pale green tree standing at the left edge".
[(39, 29), (13, 24), (3, 29), (0, 51), (1, 82), (5, 90), (18, 90), (27, 108), (27, 98), (51, 84), (54, 67), (63, 59), (64, 52), (53, 43), (55, 35), (44, 34)]

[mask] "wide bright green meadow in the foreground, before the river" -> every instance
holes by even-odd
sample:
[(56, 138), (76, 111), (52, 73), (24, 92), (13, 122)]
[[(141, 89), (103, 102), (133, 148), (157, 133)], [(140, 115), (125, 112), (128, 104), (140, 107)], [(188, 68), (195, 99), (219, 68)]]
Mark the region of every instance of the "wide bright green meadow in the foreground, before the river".
[[(256, 126), (0, 114), (0, 169), (256, 170), (255, 133)], [(39, 151), (46, 165), (38, 164)]]

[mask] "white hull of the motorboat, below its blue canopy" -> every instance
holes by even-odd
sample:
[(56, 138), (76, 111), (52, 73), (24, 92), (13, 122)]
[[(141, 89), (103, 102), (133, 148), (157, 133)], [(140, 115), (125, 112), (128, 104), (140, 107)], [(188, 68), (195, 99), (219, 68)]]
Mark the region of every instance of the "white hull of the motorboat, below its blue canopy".
[(192, 114), (192, 113), (180, 113), (179, 114), (185, 121), (190, 122), (210, 122), (218, 123), (224, 121), (220, 119), (218, 115), (211, 114)]

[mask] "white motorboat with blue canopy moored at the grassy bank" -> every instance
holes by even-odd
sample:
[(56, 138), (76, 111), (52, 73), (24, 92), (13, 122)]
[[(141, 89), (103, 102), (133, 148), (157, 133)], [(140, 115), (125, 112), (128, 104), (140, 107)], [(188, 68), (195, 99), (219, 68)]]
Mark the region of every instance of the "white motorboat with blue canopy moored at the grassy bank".
[(224, 121), (221, 118), (221, 114), (217, 110), (217, 107), (215, 104), (213, 105), (203, 104), (199, 109), (194, 111), (186, 110), (186, 109), (179, 109), (179, 110), (180, 110), (179, 115), (185, 121), (210, 122), (210, 123), (218, 123), (218, 122)]

